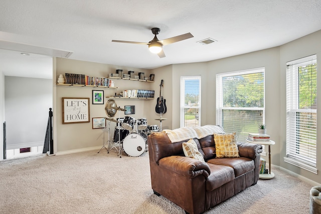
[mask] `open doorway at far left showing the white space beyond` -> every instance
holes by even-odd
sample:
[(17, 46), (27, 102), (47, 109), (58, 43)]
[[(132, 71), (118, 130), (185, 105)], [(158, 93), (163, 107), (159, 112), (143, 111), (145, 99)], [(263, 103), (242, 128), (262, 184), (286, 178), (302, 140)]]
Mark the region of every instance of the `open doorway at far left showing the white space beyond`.
[(0, 58), (5, 74), (6, 159), (41, 154), (53, 106), (53, 57), (0, 50)]

